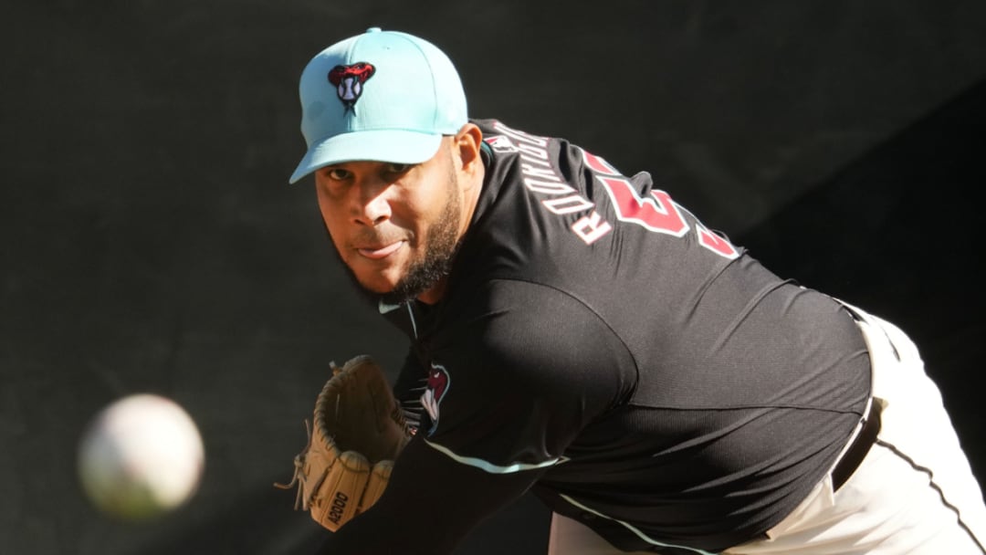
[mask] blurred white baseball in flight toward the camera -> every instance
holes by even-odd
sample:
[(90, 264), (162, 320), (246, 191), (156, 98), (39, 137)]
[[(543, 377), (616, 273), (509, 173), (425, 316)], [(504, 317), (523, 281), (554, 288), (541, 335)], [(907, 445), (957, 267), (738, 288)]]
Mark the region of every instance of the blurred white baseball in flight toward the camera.
[(205, 449), (195, 422), (175, 401), (149, 393), (101, 410), (78, 453), (83, 490), (96, 507), (123, 520), (146, 520), (195, 493)]

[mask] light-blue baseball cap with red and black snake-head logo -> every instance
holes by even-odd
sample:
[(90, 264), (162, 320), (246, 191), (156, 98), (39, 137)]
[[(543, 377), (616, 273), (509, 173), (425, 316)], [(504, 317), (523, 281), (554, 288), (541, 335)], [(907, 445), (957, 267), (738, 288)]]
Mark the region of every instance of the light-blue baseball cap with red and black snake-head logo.
[(299, 96), (308, 152), (292, 183), (340, 162), (424, 162), (467, 121), (452, 60), (427, 40), (376, 27), (317, 53)]

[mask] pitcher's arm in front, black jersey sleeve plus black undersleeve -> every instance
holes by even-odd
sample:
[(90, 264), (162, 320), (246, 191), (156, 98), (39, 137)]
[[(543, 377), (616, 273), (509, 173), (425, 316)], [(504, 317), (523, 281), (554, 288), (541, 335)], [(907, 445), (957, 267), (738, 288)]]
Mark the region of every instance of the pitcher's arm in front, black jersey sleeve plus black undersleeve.
[[(319, 553), (452, 553), (625, 395), (632, 362), (598, 316), (550, 288), (488, 287), (489, 307), (433, 338), (428, 361), (449, 379), (441, 410), (432, 407), (428, 429), (401, 452), (380, 501), (327, 536)], [(411, 363), (398, 382), (424, 374)]]

